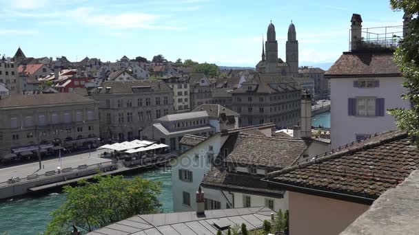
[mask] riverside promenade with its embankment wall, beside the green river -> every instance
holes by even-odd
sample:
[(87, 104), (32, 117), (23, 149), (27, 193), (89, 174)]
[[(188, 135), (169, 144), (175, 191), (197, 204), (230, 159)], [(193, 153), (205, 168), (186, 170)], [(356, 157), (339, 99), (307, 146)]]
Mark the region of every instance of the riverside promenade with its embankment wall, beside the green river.
[(98, 170), (103, 172), (103, 175), (123, 175), (140, 168), (166, 164), (176, 157), (167, 153), (134, 161), (121, 161), (99, 157), (103, 151), (105, 150), (62, 157), (60, 170), (57, 169), (60, 166), (59, 159), (43, 161), (41, 169), (39, 162), (0, 169), (0, 199), (62, 187), (81, 178), (92, 179)]

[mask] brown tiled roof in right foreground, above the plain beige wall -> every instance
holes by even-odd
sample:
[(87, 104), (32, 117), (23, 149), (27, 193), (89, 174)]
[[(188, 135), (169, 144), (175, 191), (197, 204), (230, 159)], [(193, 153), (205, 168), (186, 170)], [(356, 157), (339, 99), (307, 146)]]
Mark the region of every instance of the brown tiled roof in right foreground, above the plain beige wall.
[(382, 133), (335, 153), (268, 175), (278, 187), (322, 190), (374, 200), (417, 169), (419, 152), (407, 133)]

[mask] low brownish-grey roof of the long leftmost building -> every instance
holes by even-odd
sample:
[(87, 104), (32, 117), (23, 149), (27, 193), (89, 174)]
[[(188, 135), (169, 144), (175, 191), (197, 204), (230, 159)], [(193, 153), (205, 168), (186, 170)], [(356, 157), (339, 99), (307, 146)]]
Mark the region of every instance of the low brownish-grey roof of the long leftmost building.
[(12, 94), (0, 100), (0, 109), (12, 107), (48, 106), (57, 104), (87, 104), (94, 102), (94, 100), (81, 96), (77, 93), (48, 93), (33, 95)]

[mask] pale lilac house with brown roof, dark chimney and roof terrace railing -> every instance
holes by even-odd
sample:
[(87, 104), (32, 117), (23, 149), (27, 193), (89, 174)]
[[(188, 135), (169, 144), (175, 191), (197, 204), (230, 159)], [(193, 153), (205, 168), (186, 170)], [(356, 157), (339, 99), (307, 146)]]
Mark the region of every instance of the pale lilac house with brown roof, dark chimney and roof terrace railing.
[(332, 148), (396, 129), (387, 110), (410, 107), (401, 99), (406, 89), (393, 60), (394, 48), (386, 47), (393, 39), (385, 45), (362, 41), (367, 37), (361, 32), (360, 15), (354, 14), (351, 22), (351, 52), (344, 52), (325, 74), (331, 86)]

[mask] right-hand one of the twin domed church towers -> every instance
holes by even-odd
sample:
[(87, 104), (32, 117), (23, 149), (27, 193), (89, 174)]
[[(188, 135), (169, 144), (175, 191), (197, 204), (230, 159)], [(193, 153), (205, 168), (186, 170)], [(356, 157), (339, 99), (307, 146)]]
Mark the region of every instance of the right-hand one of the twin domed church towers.
[(298, 76), (298, 41), (296, 36), (296, 27), (292, 21), (288, 27), (288, 41), (285, 54), (289, 65), (289, 71), (292, 76)]

